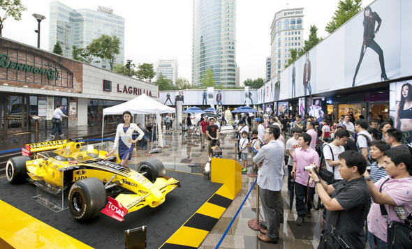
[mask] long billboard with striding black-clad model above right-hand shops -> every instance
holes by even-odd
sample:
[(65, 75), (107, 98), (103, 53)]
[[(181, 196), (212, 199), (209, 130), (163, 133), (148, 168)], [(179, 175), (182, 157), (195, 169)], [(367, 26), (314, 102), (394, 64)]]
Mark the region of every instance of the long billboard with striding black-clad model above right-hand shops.
[(411, 12), (409, 0), (374, 1), (280, 73), (279, 100), (411, 75)]

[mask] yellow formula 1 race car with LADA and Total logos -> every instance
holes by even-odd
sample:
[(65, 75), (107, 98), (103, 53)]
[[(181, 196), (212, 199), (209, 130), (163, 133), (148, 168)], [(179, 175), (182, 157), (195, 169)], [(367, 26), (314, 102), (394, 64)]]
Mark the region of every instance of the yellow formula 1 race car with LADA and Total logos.
[(8, 160), (8, 181), (22, 183), (29, 176), (32, 183), (49, 193), (70, 190), (68, 207), (80, 221), (99, 212), (122, 221), (127, 213), (144, 206), (159, 206), (166, 194), (180, 187), (179, 181), (165, 176), (165, 167), (157, 159), (146, 160), (135, 171), (119, 165), (118, 156), (105, 156), (110, 147), (106, 143), (84, 146), (78, 141), (27, 145), (22, 149), (27, 156)]

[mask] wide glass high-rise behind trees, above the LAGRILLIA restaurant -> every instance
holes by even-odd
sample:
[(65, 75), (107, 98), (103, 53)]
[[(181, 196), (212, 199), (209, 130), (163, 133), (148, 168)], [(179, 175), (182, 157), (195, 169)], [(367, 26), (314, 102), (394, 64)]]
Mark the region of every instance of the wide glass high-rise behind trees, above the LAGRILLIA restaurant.
[[(72, 47), (87, 47), (91, 40), (101, 35), (120, 38), (120, 54), (114, 63), (124, 63), (124, 18), (113, 14), (113, 10), (98, 6), (98, 10), (73, 10), (59, 1), (50, 2), (49, 51), (58, 41), (63, 55), (72, 58)], [(110, 70), (109, 63), (96, 58), (94, 66)], [(95, 61), (96, 61), (95, 60)]]

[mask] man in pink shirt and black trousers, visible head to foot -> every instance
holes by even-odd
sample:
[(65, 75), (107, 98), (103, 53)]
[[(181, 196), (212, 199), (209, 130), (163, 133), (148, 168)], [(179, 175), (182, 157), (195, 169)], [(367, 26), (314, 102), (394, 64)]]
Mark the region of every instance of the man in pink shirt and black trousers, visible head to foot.
[[(296, 212), (297, 218), (295, 224), (298, 226), (303, 225), (305, 217), (311, 218), (311, 200), (315, 195), (315, 183), (308, 184), (309, 174), (305, 171), (305, 167), (315, 163), (319, 165), (319, 155), (316, 150), (310, 146), (311, 135), (302, 133), (299, 135), (300, 148), (295, 150), (293, 156), (293, 169), (290, 174), (295, 179), (295, 194), (296, 194)], [(309, 189), (308, 189), (309, 188)], [(309, 192), (309, 194), (307, 194)], [(304, 203), (307, 203), (307, 209)]]

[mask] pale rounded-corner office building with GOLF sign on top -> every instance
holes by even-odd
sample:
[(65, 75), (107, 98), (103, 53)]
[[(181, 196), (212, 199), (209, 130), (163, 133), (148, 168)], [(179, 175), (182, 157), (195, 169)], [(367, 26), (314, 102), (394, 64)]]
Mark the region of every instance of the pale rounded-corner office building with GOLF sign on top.
[(274, 15), (270, 30), (270, 79), (273, 79), (284, 70), (290, 50), (299, 52), (303, 47), (303, 8), (280, 10)]

